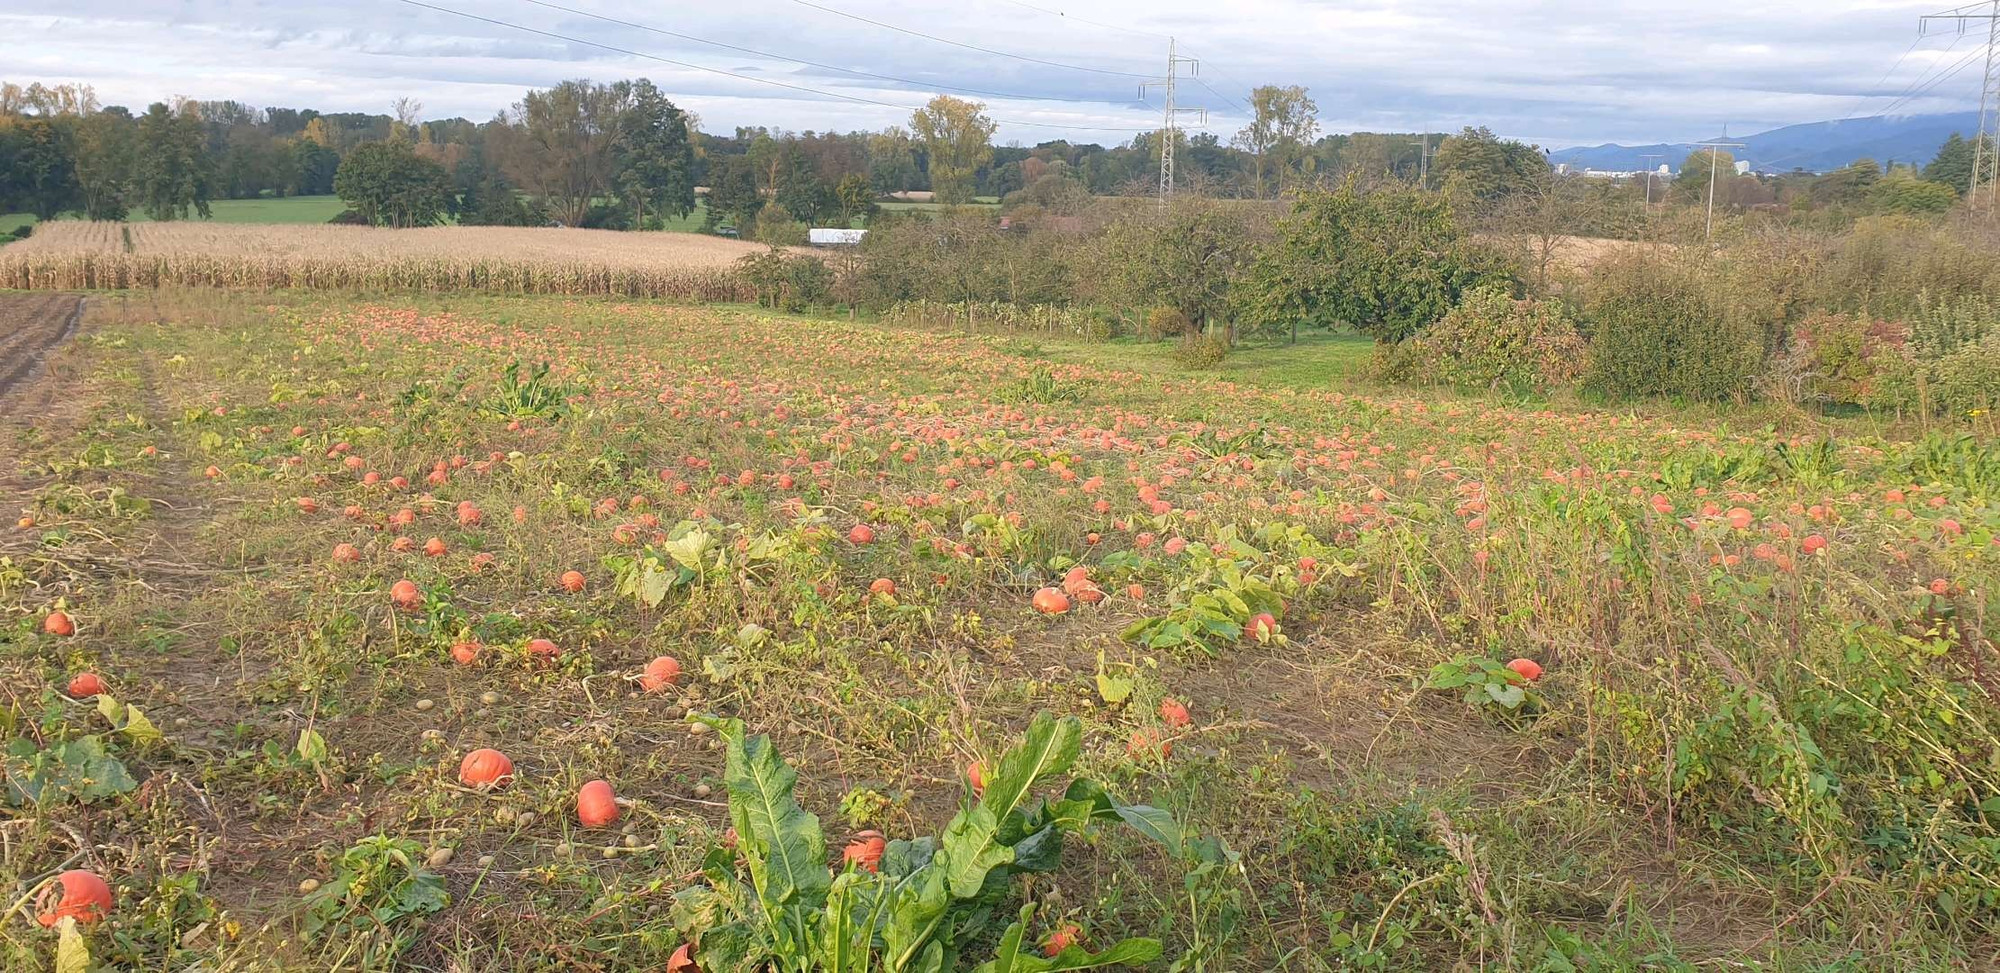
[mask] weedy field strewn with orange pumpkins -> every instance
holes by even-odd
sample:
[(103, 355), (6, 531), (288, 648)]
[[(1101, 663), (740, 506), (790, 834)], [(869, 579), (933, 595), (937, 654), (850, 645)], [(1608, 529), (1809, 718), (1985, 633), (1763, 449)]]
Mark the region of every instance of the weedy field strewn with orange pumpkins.
[(172, 286), (0, 416), (4, 969), (2000, 951), (1972, 436)]

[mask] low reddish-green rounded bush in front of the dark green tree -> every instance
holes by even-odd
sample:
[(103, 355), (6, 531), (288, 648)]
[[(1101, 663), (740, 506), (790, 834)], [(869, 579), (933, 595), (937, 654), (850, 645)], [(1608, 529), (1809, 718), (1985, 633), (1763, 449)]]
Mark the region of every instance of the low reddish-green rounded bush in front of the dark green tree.
[(1576, 382), (1588, 346), (1560, 300), (1470, 290), (1442, 320), (1384, 352), (1382, 376), (1462, 390), (1548, 392)]

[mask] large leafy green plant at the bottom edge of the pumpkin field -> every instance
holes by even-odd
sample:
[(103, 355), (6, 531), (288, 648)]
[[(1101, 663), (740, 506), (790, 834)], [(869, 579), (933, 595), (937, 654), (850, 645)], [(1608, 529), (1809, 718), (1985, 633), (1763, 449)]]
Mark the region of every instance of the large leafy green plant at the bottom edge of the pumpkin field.
[[(882, 847), (878, 869), (846, 863), (828, 871), (820, 819), (798, 805), (798, 771), (768, 737), (744, 737), (742, 721), (690, 717), (728, 743), (724, 785), (736, 847), (710, 851), (706, 885), (676, 893), (674, 925), (694, 943), (702, 969), (946, 971), (960, 949), (994, 925), (1012, 879), (1050, 871), (1062, 839), (1094, 821), (1124, 819), (1150, 833), (1164, 813), (1118, 805), (1102, 785), (1076, 779), (1060, 799), (1036, 799), (1038, 783), (1076, 763), (1082, 725), (1038, 715), (1026, 737), (988, 771), (980, 797), (938, 837)], [(1156, 939), (1128, 939), (1102, 953), (1072, 945), (1054, 957), (1022, 953), (1032, 907), (1000, 933), (980, 971), (1054, 971), (1146, 963)]]

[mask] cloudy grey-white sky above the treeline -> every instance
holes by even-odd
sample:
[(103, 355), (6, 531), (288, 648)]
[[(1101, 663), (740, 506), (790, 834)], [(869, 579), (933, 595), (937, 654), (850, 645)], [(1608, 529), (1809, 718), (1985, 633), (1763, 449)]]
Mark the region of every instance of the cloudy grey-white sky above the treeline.
[(1486, 124), (1568, 146), (1970, 110), (1984, 40), (1918, 36), (1948, 0), (420, 2), (6, 0), (0, 80), (90, 82), (132, 106), (412, 96), (484, 120), (528, 86), (648, 76), (708, 130), (882, 128), (944, 90), (984, 100), (1000, 142), (1122, 142), (1158, 126), (1138, 84), (1174, 36), (1200, 58), (1180, 104), (1224, 138), (1248, 88), (1278, 82), (1306, 84), (1328, 132)]

